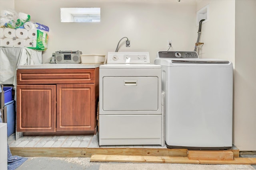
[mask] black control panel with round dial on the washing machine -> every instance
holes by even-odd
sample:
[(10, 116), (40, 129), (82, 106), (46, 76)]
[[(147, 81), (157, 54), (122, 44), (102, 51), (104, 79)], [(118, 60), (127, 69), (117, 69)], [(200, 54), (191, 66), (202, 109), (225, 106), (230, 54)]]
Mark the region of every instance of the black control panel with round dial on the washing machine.
[(196, 51), (158, 51), (159, 58), (198, 59)]

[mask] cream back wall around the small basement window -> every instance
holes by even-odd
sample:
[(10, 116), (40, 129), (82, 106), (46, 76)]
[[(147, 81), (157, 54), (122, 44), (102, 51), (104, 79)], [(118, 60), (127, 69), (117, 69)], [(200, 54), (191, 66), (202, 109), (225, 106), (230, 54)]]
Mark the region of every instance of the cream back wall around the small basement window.
[[(60, 23), (62, 7), (100, 7), (100, 23)], [(196, 41), (196, 2), (176, 0), (16, 0), (15, 10), (30, 14), (31, 20), (50, 27), (43, 63), (59, 50), (83, 54), (115, 51), (122, 37), (130, 47), (119, 51), (149, 51), (154, 63), (157, 51), (193, 50)], [(185, 11), (185, 12), (184, 12)]]

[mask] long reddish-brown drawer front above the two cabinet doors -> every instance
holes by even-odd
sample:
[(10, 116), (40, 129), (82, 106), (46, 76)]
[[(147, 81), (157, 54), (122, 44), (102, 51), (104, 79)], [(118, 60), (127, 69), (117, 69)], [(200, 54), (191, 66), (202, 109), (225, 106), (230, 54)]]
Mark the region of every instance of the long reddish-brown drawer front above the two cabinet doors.
[(94, 69), (17, 70), (17, 84), (80, 84), (94, 82)]

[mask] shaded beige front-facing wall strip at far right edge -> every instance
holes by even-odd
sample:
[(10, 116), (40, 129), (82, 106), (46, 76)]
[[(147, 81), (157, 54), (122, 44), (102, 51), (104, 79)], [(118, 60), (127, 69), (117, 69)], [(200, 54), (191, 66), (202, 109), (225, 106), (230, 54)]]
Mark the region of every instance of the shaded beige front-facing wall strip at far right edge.
[(256, 150), (256, 1), (236, 0), (234, 145)]

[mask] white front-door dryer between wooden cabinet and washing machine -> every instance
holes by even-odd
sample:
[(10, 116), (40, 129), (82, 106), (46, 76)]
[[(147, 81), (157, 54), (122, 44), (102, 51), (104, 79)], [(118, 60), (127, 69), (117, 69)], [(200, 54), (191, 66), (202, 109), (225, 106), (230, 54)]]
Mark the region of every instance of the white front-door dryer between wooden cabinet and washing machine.
[(164, 145), (161, 66), (148, 52), (109, 52), (99, 70), (99, 145)]

